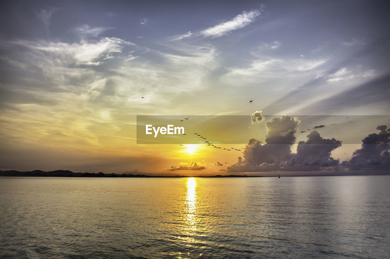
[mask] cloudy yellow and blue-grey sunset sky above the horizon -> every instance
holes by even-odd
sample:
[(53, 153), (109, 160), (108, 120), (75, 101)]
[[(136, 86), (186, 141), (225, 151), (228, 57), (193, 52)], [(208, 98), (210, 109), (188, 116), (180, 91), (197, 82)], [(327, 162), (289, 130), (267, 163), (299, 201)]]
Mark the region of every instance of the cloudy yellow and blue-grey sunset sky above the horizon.
[[(389, 172), (388, 1), (0, 5), (0, 170)], [(202, 128), (221, 149), (137, 142), (195, 115), (248, 119)]]

